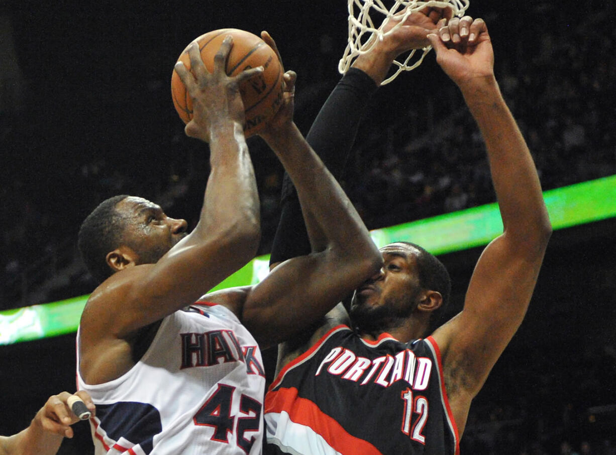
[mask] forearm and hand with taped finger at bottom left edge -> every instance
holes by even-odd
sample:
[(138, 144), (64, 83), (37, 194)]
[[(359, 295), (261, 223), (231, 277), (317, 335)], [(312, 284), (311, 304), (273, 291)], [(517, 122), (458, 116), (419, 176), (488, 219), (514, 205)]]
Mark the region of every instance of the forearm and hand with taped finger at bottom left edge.
[[(95, 406), (87, 392), (79, 390), (76, 394), (92, 414)], [(73, 414), (67, 400), (71, 394), (62, 392), (52, 395), (41, 408), (30, 426), (10, 437), (0, 436), (0, 455), (54, 455), (57, 453), (62, 439), (72, 438), (73, 429), (70, 425), (79, 421)]]

